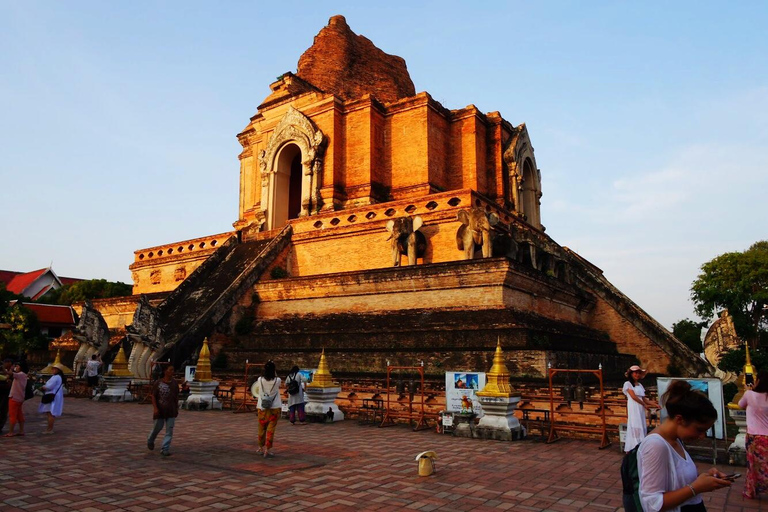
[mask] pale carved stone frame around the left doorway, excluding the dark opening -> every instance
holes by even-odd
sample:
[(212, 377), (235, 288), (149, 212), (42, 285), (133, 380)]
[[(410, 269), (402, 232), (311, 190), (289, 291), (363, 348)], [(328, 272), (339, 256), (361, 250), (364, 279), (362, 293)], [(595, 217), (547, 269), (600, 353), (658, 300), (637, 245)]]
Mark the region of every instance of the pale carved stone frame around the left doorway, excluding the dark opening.
[(310, 119), (293, 106), (275, 127), (267, 149), (259, 153), (261, 170), (261, 211), (267, 222), (267, 229), (274, 227), (274, 208), (277, 192), (275, 173), (280, 150), (289, 143), (296, 144), (301, 151), (302, 185), (300, 217), (319, 211), (321, 204), (320, 186), (323, 170), (323, 141), (325, 136)]

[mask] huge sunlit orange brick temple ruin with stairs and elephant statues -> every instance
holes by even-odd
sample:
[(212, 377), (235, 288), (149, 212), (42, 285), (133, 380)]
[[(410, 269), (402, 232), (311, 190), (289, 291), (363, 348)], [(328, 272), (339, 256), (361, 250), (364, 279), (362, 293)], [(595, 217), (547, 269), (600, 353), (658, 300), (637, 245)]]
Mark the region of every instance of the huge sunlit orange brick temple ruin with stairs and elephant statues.
[(232, 368), (313, 367), (324, 347), (336, 375), (424, 361), (439, 378), (486, 370), (500, 340), (517, 377), (712, 371), (547, 236), (525, 124), (416, 93), (342, 16), (269, 87), (237, 135), (234, 230), (135, 251), (134, 295), (94, 301), (134, 375), (194, 362), (206, 336)]

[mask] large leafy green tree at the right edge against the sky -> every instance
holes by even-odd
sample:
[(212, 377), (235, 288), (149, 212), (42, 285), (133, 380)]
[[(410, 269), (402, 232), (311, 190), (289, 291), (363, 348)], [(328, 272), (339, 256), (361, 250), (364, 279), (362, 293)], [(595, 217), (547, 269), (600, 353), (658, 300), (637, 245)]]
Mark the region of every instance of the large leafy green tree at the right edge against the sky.
[(701, 266), (691, 286), (696, 314), (712, 318), (728, 308), (736, 333), (756, 347), (765, 336), (765, 306), (768, 304), (768, 241), (744, 252), (721, 254)]

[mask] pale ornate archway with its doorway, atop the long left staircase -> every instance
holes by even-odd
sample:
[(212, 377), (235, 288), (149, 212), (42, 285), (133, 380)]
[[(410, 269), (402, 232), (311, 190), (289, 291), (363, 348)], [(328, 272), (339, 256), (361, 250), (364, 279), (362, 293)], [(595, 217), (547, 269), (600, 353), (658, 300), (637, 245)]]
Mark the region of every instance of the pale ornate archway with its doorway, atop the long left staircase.
[[(324, 138), (323, 132), (307, 116), (293, 106), (288, 107), (288, 112), (275, 127), (267, 149), (259, 154), (261, 211), (266, 229), (281, 227), (290, 218), (306, 217), (320, 210)], [(291, 186), (297, 156), (301, 173), (300, 176), (293, 175)], [(297, 194), (297, 185), (300, 185), (301, 195), (296, 215), (292, 210), (295, 202), (291, 203), (291, 195)]]

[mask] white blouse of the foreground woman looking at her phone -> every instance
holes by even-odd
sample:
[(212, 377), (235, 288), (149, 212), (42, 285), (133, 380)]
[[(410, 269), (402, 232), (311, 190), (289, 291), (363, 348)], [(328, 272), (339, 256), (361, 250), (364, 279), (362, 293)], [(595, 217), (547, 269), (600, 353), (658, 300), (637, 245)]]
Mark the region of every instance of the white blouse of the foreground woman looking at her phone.
[[(637, 450), (637, 470), (640, 474), (640, 502), (646, 512), (658, 512), (664, 503), (664, 493), (682, 489), (693, 483), (699, 476), (696, 464), (683, 448), (685, 458), (659, 434), (650, 434)], [(671, 511), (678, 511), (684, 505), (700, 503), (700, 495), (693, 496)]]

